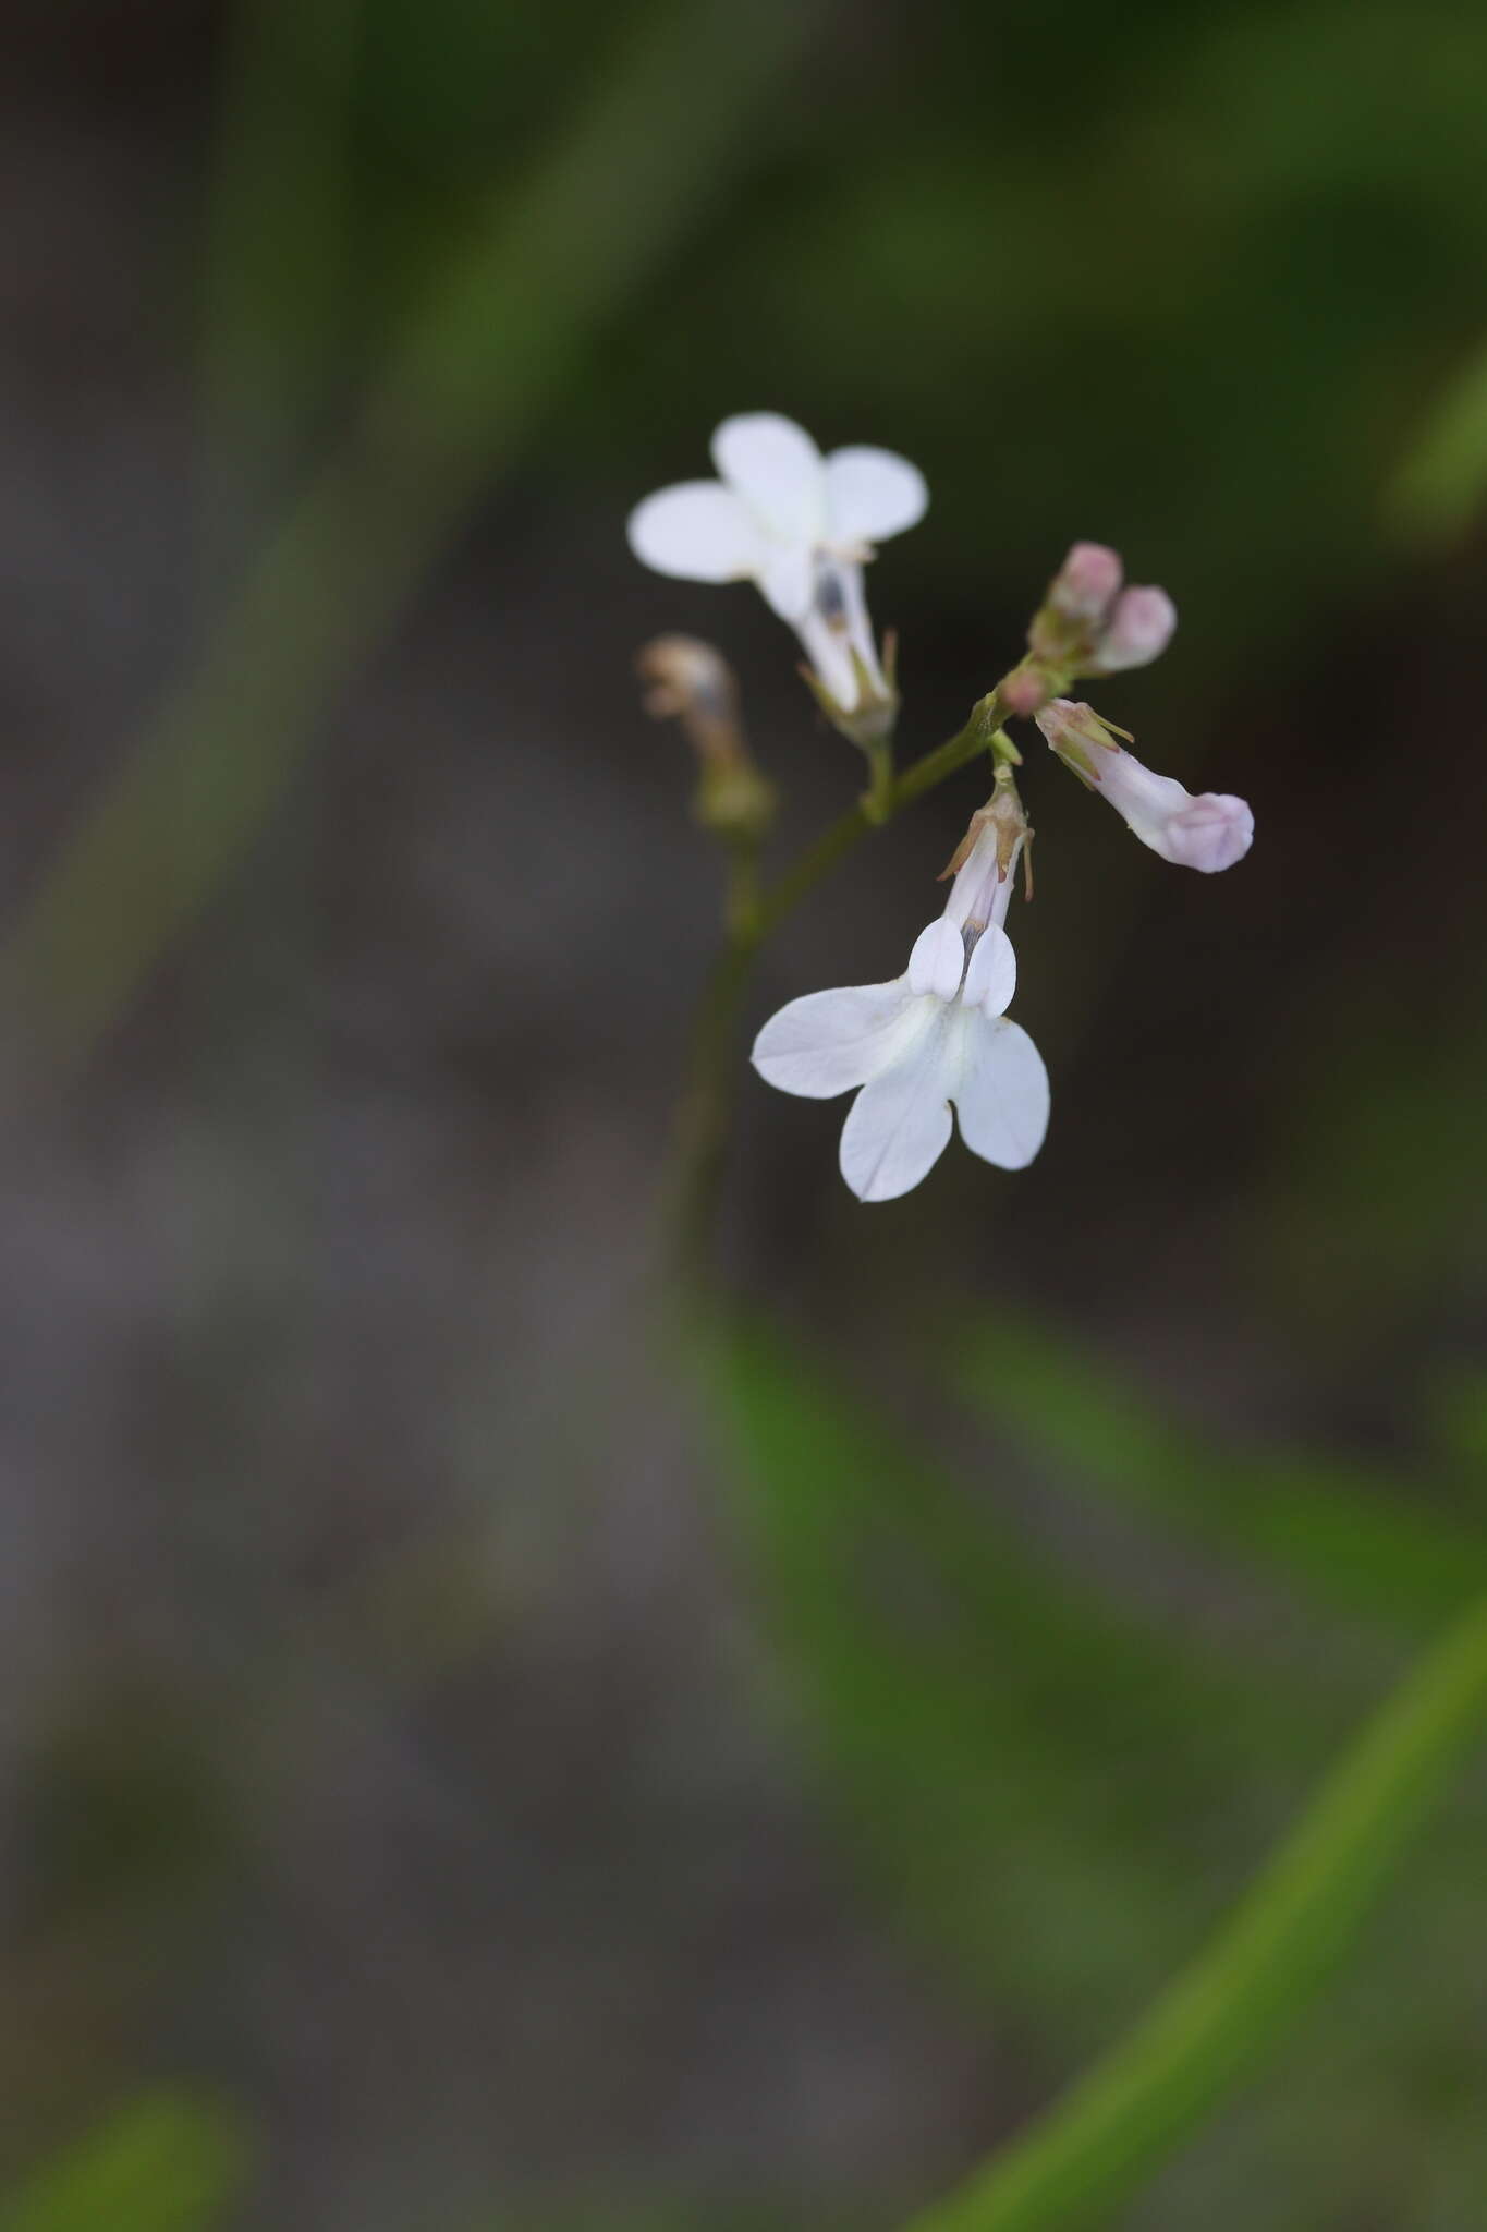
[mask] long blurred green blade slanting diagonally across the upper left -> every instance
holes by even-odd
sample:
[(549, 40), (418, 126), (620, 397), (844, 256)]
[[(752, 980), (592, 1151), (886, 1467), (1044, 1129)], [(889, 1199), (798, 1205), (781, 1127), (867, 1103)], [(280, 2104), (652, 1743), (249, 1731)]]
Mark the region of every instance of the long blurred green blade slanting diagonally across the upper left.
[(823, 13), (696, 0), (647, 16), (528, 187), (497, 196), (16, 924), (7, 991), (38, 1054), (82, 1056), (232, 868), (584, 341), (758, 150), (767, 96)]

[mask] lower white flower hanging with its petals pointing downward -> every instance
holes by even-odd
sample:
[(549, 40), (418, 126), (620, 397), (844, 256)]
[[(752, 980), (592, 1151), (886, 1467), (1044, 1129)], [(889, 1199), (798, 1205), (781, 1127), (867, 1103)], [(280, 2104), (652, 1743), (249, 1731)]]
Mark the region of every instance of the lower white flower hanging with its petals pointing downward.
[(892, 1201), (934, 1167), (952, 1132), (972, 1154), (1023, 1170), (1048, 1129), (1048, 1071), (1005, 1020), (1017, 958), (1003, 922), (1012, 875), (999, 873), (997, 833), (983, 828), (945, 913), (914, 940), (892, 984), (814, 991), (771, 1016), (754, 1040), (767, 1085), (847, 1109), (840, 1172), (858, 1201)]

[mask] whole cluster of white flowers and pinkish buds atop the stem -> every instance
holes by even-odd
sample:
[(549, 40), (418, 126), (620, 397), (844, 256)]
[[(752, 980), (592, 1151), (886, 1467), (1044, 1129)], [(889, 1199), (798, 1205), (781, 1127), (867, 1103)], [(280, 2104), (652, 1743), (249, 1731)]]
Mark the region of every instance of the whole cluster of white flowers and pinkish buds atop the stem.
[[(718, 480), (682, 482), (638, 504), (629, 522), (635, 556), (687, 580), (754, 580), (796, 629), (811, 661), (807, 679), (836, 725), (878, 754), (878, 775), (892, 775), (885, 752), (898, 699), (892, 656), (878, 654), (867, 616), (863, 567), (878, 542), (923, 518), (921, 473), (885, 449), (823, 458), (800, 426), (767, 411), (725, 420), (713, 464)], [(914, 940), (903, 975), (805, 993), (758, 1033), (754, 1067), (765, 1083), (811, 1100), (856, 1094), (840, 1170), (861, 1201), (892, 1201), (919, 1185), (956, 1120), (972, 1154), (1003, 1170), (1023, 1170), (1043, 1145), (1048, 1071), (1021, 1024), (1008, 1020), (1017, 955), (1005, 920), (1032, 841), (1008, 719), (1032, 716), (1063, 766), (1164, 859), (1213, 875), (1248, 850), (1255, 824), (1244, 799), (1193, 797), (1175, 777), (1141, 766), (1126, 750), (1126, 730), (1066, 694), (1077, 681), (1148, 665), (1175, 625), (1166, 589), (1126, 587), (1112, 549), (1075, 542), (1032, 618), (1026, 658), (963, 732), (965, 757), (990, 750), (994, 790), (945, 870), (954, 877), (945, 911)], [(702, 650), (689, 645), (693, 665)], [(669, 658), (669, 694), (653, 703), (682, 710), (676, 650)], [(700, 748), (707, 734), (702, 723)], [(892, 783), (863, 812), (885, 804), (892, 810)]]

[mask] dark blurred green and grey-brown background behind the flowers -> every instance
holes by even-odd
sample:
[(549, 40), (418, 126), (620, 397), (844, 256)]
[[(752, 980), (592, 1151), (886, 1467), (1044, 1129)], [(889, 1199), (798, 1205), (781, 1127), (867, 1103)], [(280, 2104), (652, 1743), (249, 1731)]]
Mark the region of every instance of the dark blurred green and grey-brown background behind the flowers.
[[(887, 2232), (1128, 2024), (1483, 1571), (1487, 13), (11, 0), (7, 2232)], [(370, 402), (368, 402), (370, 397)], [(836, 1176), (738, 1058), (624, 516), (731, 411), (927, 473), (954, 732), (1075, 538), (1010, 1178)], [(310, 491), (308, 496), (303, 491)], [(290, 520), (283, 529), (281, 520)], [(261, 551), (268, 549), (268, 562)], [(963, 775), (765, 955), (887, 978)], [(1485, 1792), (1133, 2232), (1469, 2232)]]

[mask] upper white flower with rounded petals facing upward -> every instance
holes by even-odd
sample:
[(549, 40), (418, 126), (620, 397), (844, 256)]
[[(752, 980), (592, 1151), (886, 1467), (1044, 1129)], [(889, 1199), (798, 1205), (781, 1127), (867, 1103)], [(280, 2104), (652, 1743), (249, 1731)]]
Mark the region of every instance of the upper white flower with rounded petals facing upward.
[(843, 712), (858, 701), (854, 654), (887, 696), (863, 565), (876, 542), (923, 518), (923, 473), (887, 449), (823, 458), (776, 411), (725, 420), (711, 449), (720, 480), (684, 480), (635, 504), (635, 556), (680, 580), (754, 580)]

